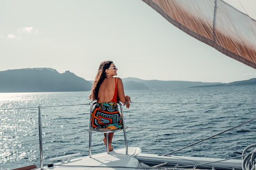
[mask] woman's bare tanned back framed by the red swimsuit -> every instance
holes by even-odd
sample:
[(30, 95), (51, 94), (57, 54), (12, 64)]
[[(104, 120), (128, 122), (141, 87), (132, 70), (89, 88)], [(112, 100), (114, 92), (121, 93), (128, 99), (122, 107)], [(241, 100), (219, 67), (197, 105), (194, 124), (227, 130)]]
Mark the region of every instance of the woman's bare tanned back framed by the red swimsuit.
[(115, 95), (116, 81), (115, 78), (109, 77), (104, 79), (100, 85), (98, 98), (101, 102), (109, 102)]

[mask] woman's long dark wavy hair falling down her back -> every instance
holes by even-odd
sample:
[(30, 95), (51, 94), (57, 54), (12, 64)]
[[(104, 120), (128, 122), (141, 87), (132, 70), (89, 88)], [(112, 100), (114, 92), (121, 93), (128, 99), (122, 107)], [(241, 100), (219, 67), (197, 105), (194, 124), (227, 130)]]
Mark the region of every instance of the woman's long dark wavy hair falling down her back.
[(100, 85), (103, 82), (103, 80), (106, 78), (106, 70), (109, 68), (109, 66), (112, 63), (113, 61), (105, 61), (100, 63), (98, 73), (95, 77), (95, 80), (92, 86), (92, 93), (89, 99), (92, 99), (92, 100), (99, 99), (98, 94), (99, 94)]

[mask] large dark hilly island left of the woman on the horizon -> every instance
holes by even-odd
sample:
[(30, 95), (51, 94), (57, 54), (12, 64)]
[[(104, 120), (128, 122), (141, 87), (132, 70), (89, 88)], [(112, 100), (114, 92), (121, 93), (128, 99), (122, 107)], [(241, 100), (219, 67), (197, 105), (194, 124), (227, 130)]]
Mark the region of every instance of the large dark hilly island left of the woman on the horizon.
[(91, 83), (74, 73), (51, 68), (18, 69), (0, 72), (0, 92), (90, 91)]

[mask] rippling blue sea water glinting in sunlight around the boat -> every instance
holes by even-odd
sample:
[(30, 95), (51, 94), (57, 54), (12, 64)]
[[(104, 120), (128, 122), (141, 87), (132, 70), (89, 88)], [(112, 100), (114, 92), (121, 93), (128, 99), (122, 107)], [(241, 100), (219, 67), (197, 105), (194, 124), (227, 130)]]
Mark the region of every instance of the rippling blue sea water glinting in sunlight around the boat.
[[(256, 86), (126, 90), (124, 107), (129, 147), (164, 155), (256, 117)], [(89, 155), (90, 92), (0, 94), (0, 169), (39, 167), (38, 106), (41, 106), (43, 164), (50, 158)], [(17, 109), (19, 108), (19, 109)], [(256, 141), (255, 121), (172, 155), (232, 158)], [(106, 151), (103, 134), (92, 132), (92, 154)], [(123, 131), (113, 148), (124, 148)]]

